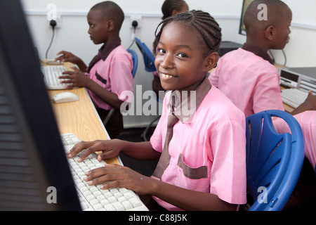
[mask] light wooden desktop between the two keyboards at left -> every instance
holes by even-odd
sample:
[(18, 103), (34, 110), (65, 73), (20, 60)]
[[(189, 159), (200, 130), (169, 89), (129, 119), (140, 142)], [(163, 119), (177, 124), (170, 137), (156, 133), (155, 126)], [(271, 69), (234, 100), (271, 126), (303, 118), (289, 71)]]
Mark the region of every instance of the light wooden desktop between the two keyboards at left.
[[(70, 63), (64, 66), (70, 70)], [(69, 91), (79, 97), (79, 101), (70, 103), (53, 103), (53, 110), (58, 123), (60, 134), (73, 133), (82, 141), (107, 140), (108, 135), (103, 123), (94, 108), (91, 99), (84, 88), (49, 90), (48, 94), (53, 98), (55, 94)], [(118, 158), (105, 160), (109, 164), (120, 164)]]

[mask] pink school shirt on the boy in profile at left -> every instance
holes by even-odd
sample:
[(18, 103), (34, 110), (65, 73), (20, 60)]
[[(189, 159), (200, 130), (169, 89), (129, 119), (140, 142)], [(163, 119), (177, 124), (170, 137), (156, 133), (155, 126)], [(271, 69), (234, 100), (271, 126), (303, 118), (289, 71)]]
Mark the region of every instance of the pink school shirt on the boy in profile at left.
[[(131, 103), (131, 99), (126, 95), (121, 95), (121, 93), (123, 91), (133, 92), (132, 69), (133, 60), (124, 46), (120, 45), (113, 49), (104, 61), (101, 59), (93, 65), (88, 77), (107, 91), (117, 94), (119, 100)], [(96, 108), (103, 108), (104, 110), (112, 108), (92, 91), (88, 90), (88, 94)]]

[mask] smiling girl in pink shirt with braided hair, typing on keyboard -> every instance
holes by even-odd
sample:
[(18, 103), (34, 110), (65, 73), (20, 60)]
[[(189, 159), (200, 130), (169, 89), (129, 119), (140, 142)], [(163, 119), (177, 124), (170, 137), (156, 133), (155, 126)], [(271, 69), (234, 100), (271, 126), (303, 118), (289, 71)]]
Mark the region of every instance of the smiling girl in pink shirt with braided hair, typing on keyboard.
[[(220, 27), (202, 11), (180, 13), (160, 25), (155, 67), (170, 91), (150, 141), (81, 141), (68, 157), (86, 149), (79, 161), (100, 150), (98, 160), (120, 152), (138, 160), (159, 158), (152, 177), (105, 165), (88, 172), (85, 180), (152, 195), (167, 210), (237, 210), (246, 203), (245, 117), (206, 77), (218, 61)], [(184, 110), (191, 101), (190, 114)]]

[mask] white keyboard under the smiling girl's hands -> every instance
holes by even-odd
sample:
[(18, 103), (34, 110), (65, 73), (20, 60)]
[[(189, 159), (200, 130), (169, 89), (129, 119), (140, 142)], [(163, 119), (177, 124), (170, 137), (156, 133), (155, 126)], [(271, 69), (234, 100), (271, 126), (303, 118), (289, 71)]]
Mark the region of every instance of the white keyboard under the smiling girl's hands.
[[(65, 151), (69, 151), (80, 140), (72, 133), (61, 134)], [(85, 172), (98, 167), (104, 167), (105, 162), (99, 162), (96, 154), (91, 154), (83, 162), (77, 162), (79, 155), (69, 159), (74, 184), (84, 211), (147, 211), (147, 207), (138, 195), (126, 188), (100, 189), (98, 186), (89, 186), (84, 181)]]

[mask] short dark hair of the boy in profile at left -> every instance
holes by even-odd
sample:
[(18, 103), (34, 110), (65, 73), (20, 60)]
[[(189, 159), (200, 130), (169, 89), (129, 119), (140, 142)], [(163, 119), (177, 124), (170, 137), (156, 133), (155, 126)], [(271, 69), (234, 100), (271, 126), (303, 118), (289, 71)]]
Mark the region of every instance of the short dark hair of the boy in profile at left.
[(113, 20), (115, 27), (118, 30), (121, 30), (121, 25), (123, 24), (125, 15), (121, 7), (114, 3), (113, 1), (102, 1), (94, 6), (92, 6), (91, 10), (100, 10), (103, 11), (104, 15), (107, 19)]

